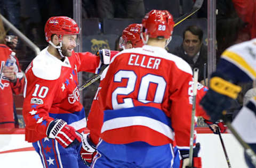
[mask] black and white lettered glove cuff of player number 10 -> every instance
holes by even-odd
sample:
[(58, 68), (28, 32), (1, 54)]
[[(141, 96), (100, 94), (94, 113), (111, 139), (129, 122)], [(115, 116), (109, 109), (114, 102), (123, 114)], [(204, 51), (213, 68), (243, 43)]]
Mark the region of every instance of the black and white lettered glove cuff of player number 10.
[(64, 120), (55, 119), (50, 122), (46, 129), (46, 136), (49, 138), (55, 138), (59, 131), (67, 124)]

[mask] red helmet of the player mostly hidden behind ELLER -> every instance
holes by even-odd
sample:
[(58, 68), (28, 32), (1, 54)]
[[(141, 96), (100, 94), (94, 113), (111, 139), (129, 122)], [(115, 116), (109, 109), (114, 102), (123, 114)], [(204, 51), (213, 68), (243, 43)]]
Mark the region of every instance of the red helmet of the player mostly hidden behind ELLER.
[(134, 48), (142, 47), (143, 41), (140, 38), (141, 28), (142, 28), (142, 24), (137, 24), (137, 23), (133, 23), (127, 26), (123, 30), (123, 34), (122, 34), (123, 44), (121, 44), (121, 46), (126, 44), (128, 41), (131, 41), (132, 47)]

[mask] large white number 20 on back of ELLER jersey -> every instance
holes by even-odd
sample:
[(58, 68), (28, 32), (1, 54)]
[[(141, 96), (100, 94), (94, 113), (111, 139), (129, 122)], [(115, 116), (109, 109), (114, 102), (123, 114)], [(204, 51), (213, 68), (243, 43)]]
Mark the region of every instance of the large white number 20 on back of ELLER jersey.
[[(131, 94), (135, 89), (135, 83), (137, 81), (137, 75), (134, 71), (118, 71), (114, 76), (115, 82), (121, 82), (122, 79), (128, 79), (126, 87), (118, 87), (116, 88), (112, 93), (112, 106), (113, 108), (119, 109), (119, 108), (129, 108), (134, 107), (132, 98), (124, 98), (124, 103), (118, 103), (117, 96), (118, 95), (129, 95)], [(148, 95), (148, 89), (150, 83), (156, 83), (156, 91), (154, 100), (150, 101), (147, 100)], [(154, 75), (154, 74), (146, 74), (141, 78), (141, 82), (139, 84), (139, 91), (138, 91), (138, 100), (141, 103), (162, 103), (166, 88), (166, 81), (163, 77)]]

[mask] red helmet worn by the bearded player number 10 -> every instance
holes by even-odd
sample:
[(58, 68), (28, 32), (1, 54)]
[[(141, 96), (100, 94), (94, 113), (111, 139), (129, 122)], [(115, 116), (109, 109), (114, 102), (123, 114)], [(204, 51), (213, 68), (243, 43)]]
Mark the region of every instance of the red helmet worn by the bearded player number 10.
[(58, 35), (61, 41), (63, 35), (76, 35), (79, 28), (76, 22), (67, 16), (53, 16), (49, 18), (44, 27), (45, 39), (51, 40), (52, 35)]

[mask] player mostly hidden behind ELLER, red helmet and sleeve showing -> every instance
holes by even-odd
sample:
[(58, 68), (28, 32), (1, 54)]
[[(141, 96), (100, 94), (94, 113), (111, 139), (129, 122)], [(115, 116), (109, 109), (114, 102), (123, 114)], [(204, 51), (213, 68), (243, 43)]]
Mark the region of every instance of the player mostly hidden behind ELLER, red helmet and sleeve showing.
[[(142, 47), (143, 41), (140, 37), (141, 33), (141, 24), (130, 24), (127, 26), (122, 33), (119, 46), (123, 49), (130, 49), (135, 47)], [(103, 74), (106, 73), (107, 69), (103, 71)], [(90, 165), (94, 155), (97, 153), (96, 145), (99, 142), (100, 131), (103, 124), (103, 112), (99, 109), (99, 100), (98, 94), (102, 85), (98, 88), (97, 93), (94, 96), (91, 110), (87, 120), (87, 128), (90, 130), (85, 138), (88, 148), (81, 148), (81, 156), (84, 159), (84, 162), (87, 165)]]

